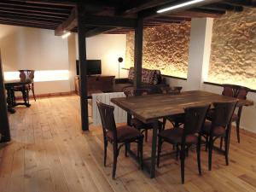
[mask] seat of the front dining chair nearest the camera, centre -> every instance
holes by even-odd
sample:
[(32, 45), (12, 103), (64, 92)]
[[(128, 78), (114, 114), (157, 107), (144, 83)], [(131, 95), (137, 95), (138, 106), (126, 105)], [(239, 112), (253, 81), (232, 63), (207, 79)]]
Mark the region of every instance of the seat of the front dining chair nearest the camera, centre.
[[(182, 143), (183, 128), (176, 127), (165, 131), (161, 131), (159, 137), (162, 137), (169, 143), (180, 144)], [(197, 137), (195, 135), (188, 135), (186, 137), (186, 143), (197, 143)]]

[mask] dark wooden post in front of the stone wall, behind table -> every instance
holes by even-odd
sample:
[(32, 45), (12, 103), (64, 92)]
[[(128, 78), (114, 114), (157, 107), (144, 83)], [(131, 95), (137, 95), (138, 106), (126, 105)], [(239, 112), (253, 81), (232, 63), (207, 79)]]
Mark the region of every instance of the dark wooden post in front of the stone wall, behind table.
[(134, 47), (134, 84), (135, 89), (140, 88), (142, 84), (143, 67), (143, 18), (138, 18), (135, 28), (135, 47)]

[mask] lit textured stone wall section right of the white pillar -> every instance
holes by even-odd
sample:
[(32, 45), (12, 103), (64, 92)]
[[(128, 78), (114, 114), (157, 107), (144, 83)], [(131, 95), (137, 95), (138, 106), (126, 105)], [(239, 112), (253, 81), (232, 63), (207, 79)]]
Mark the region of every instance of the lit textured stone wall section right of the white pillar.
[(256, 9), (214, 20), (207, 81), (256, 90)]

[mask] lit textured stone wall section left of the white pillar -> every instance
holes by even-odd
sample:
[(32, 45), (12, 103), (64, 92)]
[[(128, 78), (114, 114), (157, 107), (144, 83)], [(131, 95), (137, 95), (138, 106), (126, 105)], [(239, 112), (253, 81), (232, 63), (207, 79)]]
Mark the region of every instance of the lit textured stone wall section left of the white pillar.
[[(143, 67), (186, 78), (188, 73), (190, 22), (144, 29)], [(134, 65), (134, 32), (127, 34), (125, 67)]]

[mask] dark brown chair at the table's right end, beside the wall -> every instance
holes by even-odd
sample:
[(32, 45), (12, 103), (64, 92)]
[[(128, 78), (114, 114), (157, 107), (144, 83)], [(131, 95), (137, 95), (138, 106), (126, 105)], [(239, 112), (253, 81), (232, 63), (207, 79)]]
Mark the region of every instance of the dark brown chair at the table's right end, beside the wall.
[[(235, 84), (223, 84), (224, 90), (222, 95), (224, 96), (232, 96), (238, 99), (247, 99), (247, 93), (249, 92), (249, 88), (242, 87)], [(241, 119), (241, 110), (242, 106), (238, 107), (237, 113), (234, 113), (232, 116), (232, 122), (236, 122), (236, 137), (238, 143), (240, 143), (240, 119)]]

